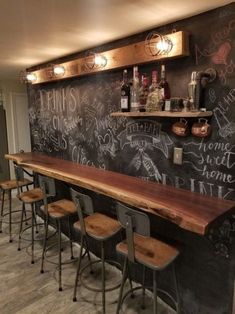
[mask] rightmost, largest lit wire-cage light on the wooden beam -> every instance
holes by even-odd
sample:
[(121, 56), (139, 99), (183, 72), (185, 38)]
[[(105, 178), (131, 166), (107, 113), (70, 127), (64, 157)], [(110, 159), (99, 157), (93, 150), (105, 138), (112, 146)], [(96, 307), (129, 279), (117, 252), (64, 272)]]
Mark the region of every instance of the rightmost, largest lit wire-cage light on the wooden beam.
[(151, 56), (167, 55), (173, 48), (172, 41), (167, 37), (151, 32), (145, 39), (145, 49)]

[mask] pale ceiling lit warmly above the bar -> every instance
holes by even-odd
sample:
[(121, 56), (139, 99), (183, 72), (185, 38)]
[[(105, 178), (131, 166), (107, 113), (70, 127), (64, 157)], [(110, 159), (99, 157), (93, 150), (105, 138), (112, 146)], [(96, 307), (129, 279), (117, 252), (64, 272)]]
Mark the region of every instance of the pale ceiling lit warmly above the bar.
[(0, 79), (231, 0), (0, 0)]

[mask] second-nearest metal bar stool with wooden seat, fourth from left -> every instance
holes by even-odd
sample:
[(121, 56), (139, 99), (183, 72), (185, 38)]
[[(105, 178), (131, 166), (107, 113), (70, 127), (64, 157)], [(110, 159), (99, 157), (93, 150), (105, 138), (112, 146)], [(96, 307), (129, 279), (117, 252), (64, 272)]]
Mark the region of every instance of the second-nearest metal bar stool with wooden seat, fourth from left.
[[(71, 189), (71, 195), (74, 203), (76, 204), (79, 221), (75, 222), (74, 228), (77, 229), (81, 233), (81, 248), (80, 248), (80, 256), (78, 258), (78, 266), (77, 273), (75, 278), (74, 285), (74, 295), (73, 301), (77, 301), (77, 285), (78, 278), (80, 274), (81, 267), (81, 259), (82, 259), (82, 251), (85, 247), (84, 242), (86, 242), (86, 250), (89, 252), (87, 247), (87, 239), (88, 237), (96, 240), (100, 243), (101, 247), (101, 263), (102, 263), (102, 289), (91, 289), (87, 285), (85, 286), (88, 289), (95, 290), (97, 292), (102, 292), (102, 308), (103, 314), (105, 314), (105, 251), (104, 244), (111, 237), (116, 235), (120, 230), (121, 226), (118, 221), (113, 218), (110, 218), (104, 214), (94, 212), (93, 202), (90, 196), (79, 193), (73, 189)], [(85, 217), (84, 217), (85, 216)], [(86, 266), (85, 266), (86, 268)], [(84, 268), (83, 268), (84, 269)], [(109, 288), (110, 290), (114, 290), (119, 287), (118, 284), (115, 287)]]

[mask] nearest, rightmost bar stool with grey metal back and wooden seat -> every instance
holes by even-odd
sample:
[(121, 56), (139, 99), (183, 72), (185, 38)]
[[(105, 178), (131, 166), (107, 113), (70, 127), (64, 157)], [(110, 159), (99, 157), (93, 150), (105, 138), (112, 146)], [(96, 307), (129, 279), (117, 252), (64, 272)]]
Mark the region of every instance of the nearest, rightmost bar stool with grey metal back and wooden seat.
[[(162, 242), (150, 236), (149, 217), (143, 212), (129, 208), (123, 204), (117, 204), (117, 215), (123, 228), (126, 231), (126, 241), (116, 246), (118, 253), (125, 257), (122, 283), (120, 287), (117, 314), (128, 295), (133, 294), (137, 289), (142, 289), (143, 308), (145, 297), (145, 267), (153, 271), (153, 313), (157, 314), (157, 292), (165, 294), (168, 299), (175, 305), (177, 313), (179, 313), (179, 294), (177, 278), (173, 261), (179, 255), (179, 250), (172, 245)], [(143, 283), (141, 287), (132, 288), (123, 296), (123, 289), (128, 277), (129, 263), (138, 263), (143, 265)], [(157, 273), (164, 270), (169, 265), (172, 266), (173, 279), (176, 289), (176, 298), (173, 298), (168, 292), (157, 288)]]

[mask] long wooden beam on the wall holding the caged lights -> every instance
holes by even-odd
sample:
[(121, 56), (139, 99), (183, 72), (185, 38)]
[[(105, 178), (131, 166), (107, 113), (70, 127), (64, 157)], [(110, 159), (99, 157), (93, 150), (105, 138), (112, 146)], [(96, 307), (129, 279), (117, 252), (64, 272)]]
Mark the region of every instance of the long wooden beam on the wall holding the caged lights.
[(151, 56), (146, 52), (146, 42), (141, 41), (135, 44), (127, 45), (124, 47), (108, 50), (100, 53), (107, 59), (107, 64), (103, 68), (91, 68), (85, 66), (86, 58), (78, 58), (72, 61), (60, 63), (65, 68), (65, 74), (58, 77), (50, 77), (48, 75), (49, 66), (42, 68), (32, 73), (37, 75), (37, 80), (32, 84), (39, 84), (50, 81), (57, 81), (59, 79), (67, 79), (76, 76), (82, 76), (101, 71), (107, 71), (117, 68), (129, 67), (136, 64), (144, 64), (157, 60), (165, 60), (170, 58), (178, 58), (189, 55), (189, 40), (188, 33), (179, 31), (166, 35), (171, 40), (173, 47), (168, 54)]

